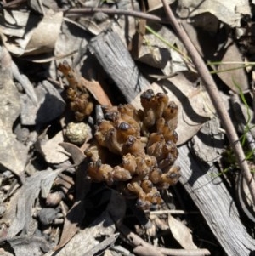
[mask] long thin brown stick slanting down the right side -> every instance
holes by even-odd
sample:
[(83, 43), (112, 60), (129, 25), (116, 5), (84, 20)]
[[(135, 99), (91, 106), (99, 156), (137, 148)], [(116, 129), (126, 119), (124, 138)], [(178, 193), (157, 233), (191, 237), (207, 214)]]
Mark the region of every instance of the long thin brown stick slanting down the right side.
[(199, 73), (202, 82), (204, 82), (204, 85), (207, 88), (207, 93), (210, 95), (212, 103), (218, 113), (218, 116), (224, 126), (224, 129), (226, 130), (226, 134), (235, 152), (235, 156), (239, 164), (239, 167), (241, 168), (241, 172), (244, 178), (246, 179), (246, 184), (248, 185), (252, 196), (252, 202), (255, 204), (255, 181), (246, 162), (246, 156), (242, 150), (240, 140), (235, 131), (235, 127), (229, 117), (228, 111), (224, 107), (223, 100), (218, 93), (217, 85), (212, 79), (212, 76), (207, 69), (207, 65), (205, 65), (204, 61), (202, 60), (201, 55), (197, 52), (194, 44), (190, 41), (190, 37), (188, 37), (186, 31), (184, 31), (183, 26), (180, 23), (178, 23), (178, 21), (174, 17), (172, 9), (168, 5), (167, 0), (162, 0), (162, 3), (164, 5), (167, 18), (169, 19), (173, 28), (177, 32), (178, 37), (184, 43), (184, 46), (187, 49), (188, 53), (190, 54), (190, 57), (194, 62), (195, 68)]

